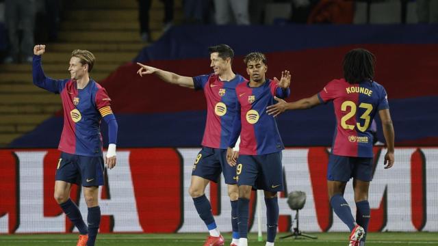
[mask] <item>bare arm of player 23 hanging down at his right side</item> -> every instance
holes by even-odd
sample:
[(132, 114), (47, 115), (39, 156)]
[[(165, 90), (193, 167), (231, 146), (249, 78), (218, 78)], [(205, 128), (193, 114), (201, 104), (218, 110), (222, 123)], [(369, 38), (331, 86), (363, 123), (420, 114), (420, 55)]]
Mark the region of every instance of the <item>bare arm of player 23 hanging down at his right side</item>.
[(394, 126), (392, 125), (391, 114), (389, 109), (378, 111), (382, 121), (383, 136), (385, 136), (387, 152), (385, 154), (385, 169), (394, 165)]

